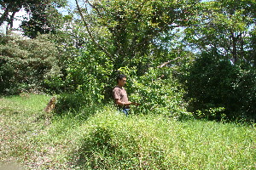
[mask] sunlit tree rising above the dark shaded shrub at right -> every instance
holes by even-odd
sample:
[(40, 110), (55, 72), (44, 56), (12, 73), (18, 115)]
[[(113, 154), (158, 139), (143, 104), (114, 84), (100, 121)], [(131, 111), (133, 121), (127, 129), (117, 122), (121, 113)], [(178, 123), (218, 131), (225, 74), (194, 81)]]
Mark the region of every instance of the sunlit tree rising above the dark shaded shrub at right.
[[(255, 0), (216, 0), (201, 3), (196, 26), (185, 30), (186, 41), (201, 50), (215, 48), (233, 63), (253, 63), (249, 46), (255, 26)], [(255, 55), (254, 55), (255, 56)]]

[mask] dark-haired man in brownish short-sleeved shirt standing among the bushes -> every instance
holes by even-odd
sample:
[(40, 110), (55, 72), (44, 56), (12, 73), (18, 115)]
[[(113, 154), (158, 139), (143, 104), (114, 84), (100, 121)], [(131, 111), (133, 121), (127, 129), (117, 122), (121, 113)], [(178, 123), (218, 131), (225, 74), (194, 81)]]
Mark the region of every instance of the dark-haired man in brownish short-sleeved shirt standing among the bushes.
[(130, 105), (140, 105), (135, 102), (131, 102), (128, 100), (128, 96), (125, 90), (125, 84), (126, 84), (126, 76), (123, 74), (120, 74), (117, 78), (117, 86), (113, 88), (113, 99), (114, 104), (118, 106), (119, 111), (122, 111), (125, 113), (126, 116), (128, 116), (130, 111)]

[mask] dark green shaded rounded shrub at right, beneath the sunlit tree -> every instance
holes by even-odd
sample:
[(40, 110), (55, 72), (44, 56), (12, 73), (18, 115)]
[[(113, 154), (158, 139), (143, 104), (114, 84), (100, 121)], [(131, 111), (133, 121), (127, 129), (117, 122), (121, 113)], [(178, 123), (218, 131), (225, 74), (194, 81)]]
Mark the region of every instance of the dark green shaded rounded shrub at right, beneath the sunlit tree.
[(255, 113), (255, 71), (223, 56), (203, 53), (185, 78), (189, 111), (209, 119), (241, 119)]

